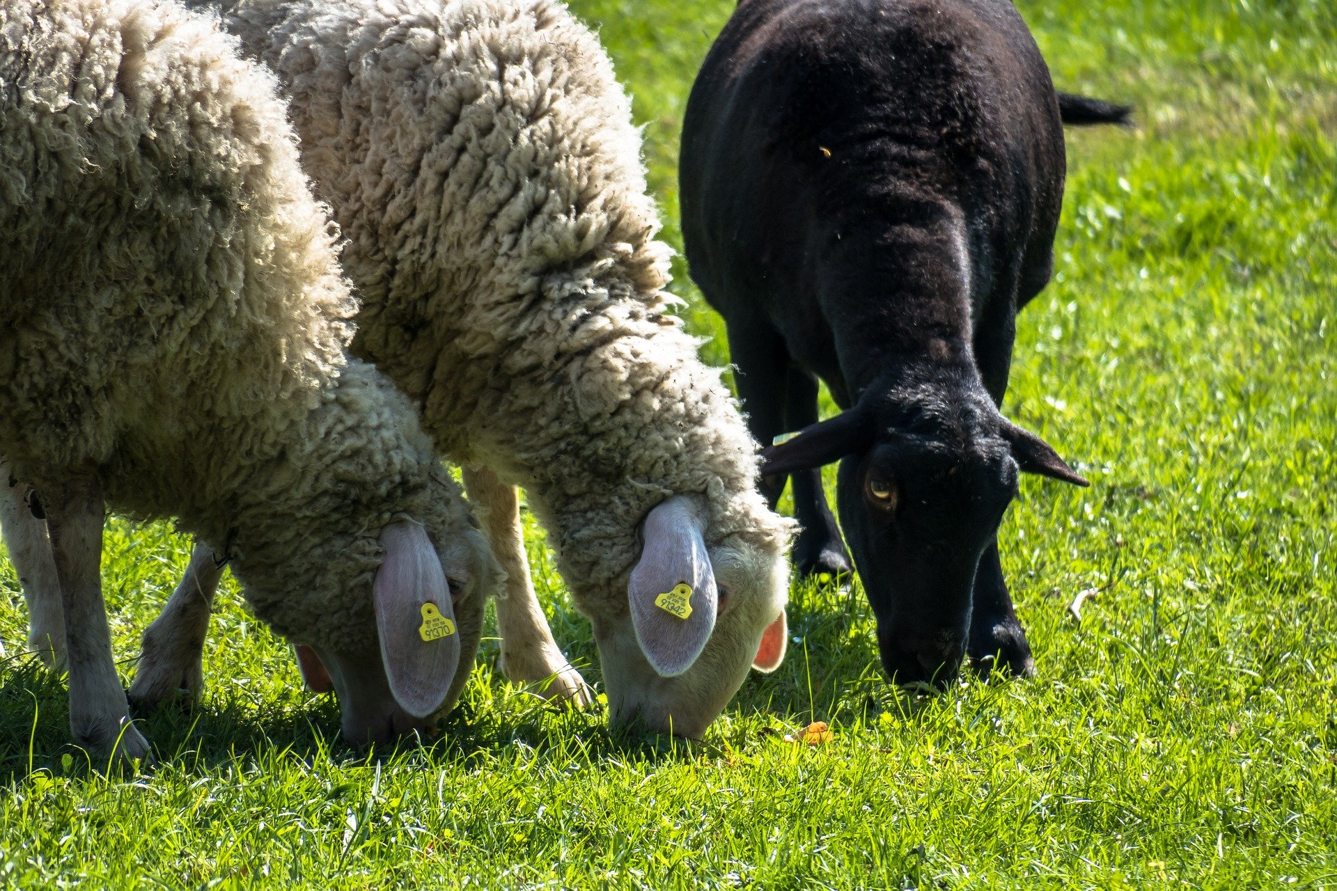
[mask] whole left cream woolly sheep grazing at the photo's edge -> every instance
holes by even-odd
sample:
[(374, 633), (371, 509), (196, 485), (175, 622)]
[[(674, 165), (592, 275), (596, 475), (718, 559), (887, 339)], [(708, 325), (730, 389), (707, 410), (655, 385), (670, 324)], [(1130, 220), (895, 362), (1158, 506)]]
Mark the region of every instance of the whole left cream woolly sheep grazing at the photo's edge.
[[(468, 673), (495, 566), (413, 406), (348, 358), (332, 242), (273, 77), (215, 21), (0, 5), (0, 454), (49, 529), (86, 747), (148, 753), (111, 656), (104, 505), (230, 558), (332, 669), (354, 741), (425, 725)], [(432, 609), (457, 628), (420, 635)]]

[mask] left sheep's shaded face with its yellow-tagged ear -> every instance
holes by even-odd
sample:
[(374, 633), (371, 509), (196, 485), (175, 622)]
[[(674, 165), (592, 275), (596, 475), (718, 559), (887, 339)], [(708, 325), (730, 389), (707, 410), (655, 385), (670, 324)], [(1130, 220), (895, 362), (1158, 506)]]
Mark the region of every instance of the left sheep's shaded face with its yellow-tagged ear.
[(333, 691), (344, 736), (388, 743), (429, 728), (459, 697), (477, 652), (496, 574), (472, 528), (433, 546), (410, 521), (381, 532), (385, 560), (372, 585), (374, 628), (365, 635), (294, 636), (308, 687)]

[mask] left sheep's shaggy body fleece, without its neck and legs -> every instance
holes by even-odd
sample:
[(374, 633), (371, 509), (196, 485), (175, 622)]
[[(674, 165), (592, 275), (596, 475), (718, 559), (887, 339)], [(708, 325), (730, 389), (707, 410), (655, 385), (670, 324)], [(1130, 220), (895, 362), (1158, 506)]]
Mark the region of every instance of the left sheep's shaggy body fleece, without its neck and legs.
[(0, 114), (0, 453), (179, 513), (350, 337), (273, 80), (174, 4), (9, 0)]

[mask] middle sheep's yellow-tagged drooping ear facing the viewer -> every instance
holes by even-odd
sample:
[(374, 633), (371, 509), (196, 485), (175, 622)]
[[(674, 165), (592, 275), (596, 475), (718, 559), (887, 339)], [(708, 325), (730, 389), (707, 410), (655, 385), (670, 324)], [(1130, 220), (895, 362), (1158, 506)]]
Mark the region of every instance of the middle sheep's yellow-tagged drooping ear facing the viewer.
[(682, 675), (715, 629), (715, 573), (691, 501), (677, 496), (650, 512), (644, 550), (627, 597), (636, 643), (662, 677)]

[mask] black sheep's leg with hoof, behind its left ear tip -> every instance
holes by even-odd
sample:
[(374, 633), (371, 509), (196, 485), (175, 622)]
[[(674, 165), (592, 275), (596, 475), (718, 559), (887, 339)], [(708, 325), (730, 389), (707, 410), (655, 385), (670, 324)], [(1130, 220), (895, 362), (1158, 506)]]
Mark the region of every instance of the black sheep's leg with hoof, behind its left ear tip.
[[(801, 430), (817, 423), (817, 378), (796, 367), (789, 369), (789, 394), (785, 401), (785, 423)], [(794, 565), (801, 576), (848, 576), (853, 572), (849, 552), (836, 525), (836, 516), (822, 489), (822, 470), (800, 470), (794, 484), (794, 517), (802, 526), (794, 542)]]

